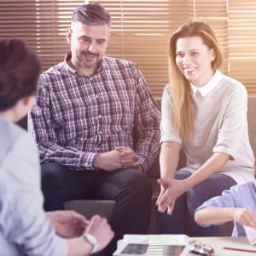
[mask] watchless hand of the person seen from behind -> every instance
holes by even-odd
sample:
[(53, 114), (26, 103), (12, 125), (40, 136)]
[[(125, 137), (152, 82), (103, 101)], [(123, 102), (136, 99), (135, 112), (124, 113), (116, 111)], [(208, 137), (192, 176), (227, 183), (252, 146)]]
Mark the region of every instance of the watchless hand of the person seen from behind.
[(45, 215), (55, 227), (55, 233), (65, 238), (82, 236), (89, 224), (84, 216), (73, 211), (45, 212)]

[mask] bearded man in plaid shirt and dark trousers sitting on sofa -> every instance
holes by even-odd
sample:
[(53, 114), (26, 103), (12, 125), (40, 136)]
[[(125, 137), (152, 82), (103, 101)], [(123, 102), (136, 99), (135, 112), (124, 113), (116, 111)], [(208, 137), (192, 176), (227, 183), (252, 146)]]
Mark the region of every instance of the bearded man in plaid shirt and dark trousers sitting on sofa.
[(160, 112), (143, 74), (131, 61), (104, 56), (109, 29), (101, 5), (75, 9), (71, 52), (41, 75), (29, 114), (45, 210), (75, 199), (116, 201), (108, 255), (125, 233), (148, 230), (152, 188), (145, 172), (160, 148)]

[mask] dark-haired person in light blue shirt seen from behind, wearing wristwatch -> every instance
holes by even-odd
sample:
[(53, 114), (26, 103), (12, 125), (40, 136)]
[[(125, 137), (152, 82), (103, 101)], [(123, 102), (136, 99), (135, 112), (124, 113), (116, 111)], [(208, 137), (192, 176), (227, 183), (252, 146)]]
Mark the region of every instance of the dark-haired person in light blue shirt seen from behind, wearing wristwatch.
[(0, 255), (89, 255), (113, 237), (105, 218), (44, 212), (38, 149), (12, 124), (34, 102), (40, 61), (18, 39), (0, 40)]

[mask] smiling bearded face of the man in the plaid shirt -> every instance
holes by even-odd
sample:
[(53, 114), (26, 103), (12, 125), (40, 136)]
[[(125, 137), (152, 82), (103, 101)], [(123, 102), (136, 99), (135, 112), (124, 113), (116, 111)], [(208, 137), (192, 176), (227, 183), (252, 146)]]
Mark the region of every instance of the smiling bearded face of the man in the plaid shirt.
[(85, 25), (74, 22), (67, 29), (67, 43), (71, 44), (72, 64), (78, 70), (96, 71), (106, 52), (109, 40), (109, 26)]

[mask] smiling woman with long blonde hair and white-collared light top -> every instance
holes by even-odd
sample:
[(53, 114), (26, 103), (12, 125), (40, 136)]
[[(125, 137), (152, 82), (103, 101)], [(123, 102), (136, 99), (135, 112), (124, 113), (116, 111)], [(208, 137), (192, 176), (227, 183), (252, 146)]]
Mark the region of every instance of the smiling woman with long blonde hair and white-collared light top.
[[(156, 201), (161, 233), (217, 236), (216, 226), (195, 223), (195, 208), (253, 179), (247, 90), (218, 70), (222, 60), (212, 28), (201, 20), (184, 23), (170, 38)], [(187, 161), (177, 171), (181, 148)]]

